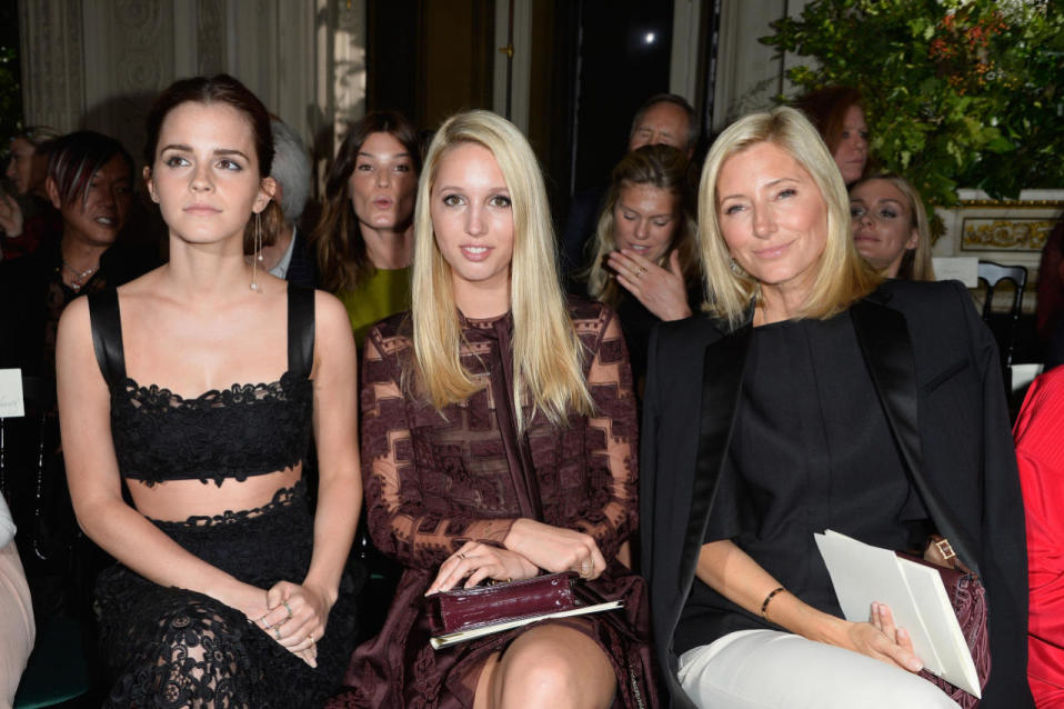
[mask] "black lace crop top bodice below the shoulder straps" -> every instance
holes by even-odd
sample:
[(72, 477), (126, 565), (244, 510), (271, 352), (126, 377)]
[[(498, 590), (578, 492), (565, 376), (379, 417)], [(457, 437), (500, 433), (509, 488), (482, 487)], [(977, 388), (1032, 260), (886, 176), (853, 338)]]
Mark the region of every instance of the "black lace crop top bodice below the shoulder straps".
[(233, 385), (185, 399), (126, 378), (111, 388), (119, 469), (149, 486), (164, 480), (245, 480), (290, 468), (310, 443), (313, 388), (287, 371), (271, 383)]

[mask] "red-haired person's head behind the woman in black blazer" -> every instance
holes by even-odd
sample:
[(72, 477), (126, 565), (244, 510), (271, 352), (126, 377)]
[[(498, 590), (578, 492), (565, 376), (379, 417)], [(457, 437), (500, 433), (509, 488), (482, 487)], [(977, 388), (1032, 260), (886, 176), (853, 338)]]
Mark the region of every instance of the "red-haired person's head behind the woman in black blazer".
[(801, 97), (793, 106), (820, 131), (846, 187), (867, 174), (869, 124), (860, 91), (824, 87)]

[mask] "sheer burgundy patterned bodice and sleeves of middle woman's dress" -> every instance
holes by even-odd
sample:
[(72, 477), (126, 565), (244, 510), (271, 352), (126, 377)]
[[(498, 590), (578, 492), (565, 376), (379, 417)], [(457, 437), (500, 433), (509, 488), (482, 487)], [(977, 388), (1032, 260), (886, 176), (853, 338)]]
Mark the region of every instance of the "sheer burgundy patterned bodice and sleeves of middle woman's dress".
[[(568, 427), (526, 410), (528, 450), (543, 521), (594, 537), (612, 559), (636, 519), (636, 425), (621, 328), (599, 303), (573, 303), (585, 348), (584, 376), (595, 415), (570, 413)], [(362, 470), (370, 533), (382, 551), (435, 570), (465, 541), (502, 543), (522, 517), (494, 391), (511, 390), (509, 316), (463, 319), (462, 363), (485, 387), (436, 411), (400, 382), (412, 357), (405, 314), (379, 323), (362, 368)], [(494, 381), (495, 386), (492, 386)], [(510, 406), (509, 402), (502, 402)]]

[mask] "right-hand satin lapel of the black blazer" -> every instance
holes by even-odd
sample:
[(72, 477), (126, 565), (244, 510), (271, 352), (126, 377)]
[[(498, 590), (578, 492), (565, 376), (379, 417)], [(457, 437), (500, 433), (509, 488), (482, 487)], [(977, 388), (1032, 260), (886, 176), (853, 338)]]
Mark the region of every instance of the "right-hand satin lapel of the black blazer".
[(902, 465), (909, 470), (938, 532), (950, 540), (961, 561), (978, 576), (978, 557), (972, 552), (973, 545), (924, 477), (916, 411), (915, 360), (905, 316), (873, 299), (865, 299), (850, 308), (850, 318), (872, 375), (872, 383), (883, 405), (886, 422), (894, 433)]

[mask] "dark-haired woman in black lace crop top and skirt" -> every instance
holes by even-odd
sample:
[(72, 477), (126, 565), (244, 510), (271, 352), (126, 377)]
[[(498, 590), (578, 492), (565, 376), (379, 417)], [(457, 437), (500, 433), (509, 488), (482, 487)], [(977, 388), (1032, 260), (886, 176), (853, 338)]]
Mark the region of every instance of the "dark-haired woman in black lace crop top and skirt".
[(106, 706), (321, 706), (354, 626), (347, 317), (245, 254), (273, 193), (273, 140), (243, 84), (173, 83), (148, 116), (145, 153), (170, 261), (74, 302), (57, 348), (71, 499), (119, 561), (97, 585), (116, 678)]

